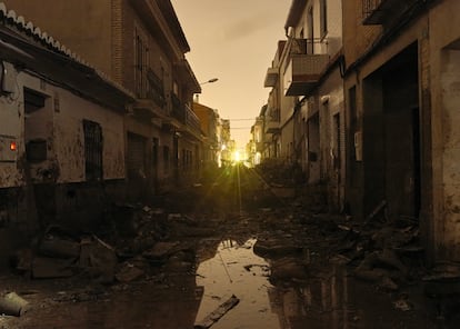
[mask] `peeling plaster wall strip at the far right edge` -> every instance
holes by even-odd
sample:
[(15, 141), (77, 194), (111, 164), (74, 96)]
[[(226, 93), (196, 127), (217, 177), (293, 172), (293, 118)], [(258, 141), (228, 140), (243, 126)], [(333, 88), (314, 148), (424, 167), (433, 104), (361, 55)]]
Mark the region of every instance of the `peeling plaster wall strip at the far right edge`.
[(460, 261), (460, 2), (430, 12), (432, 222), (434, 260)]

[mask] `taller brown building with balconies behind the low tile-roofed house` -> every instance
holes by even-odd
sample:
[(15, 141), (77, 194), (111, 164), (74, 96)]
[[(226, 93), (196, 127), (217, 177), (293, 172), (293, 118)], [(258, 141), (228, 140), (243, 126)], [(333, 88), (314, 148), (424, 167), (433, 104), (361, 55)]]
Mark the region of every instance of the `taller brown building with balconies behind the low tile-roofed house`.
[(6, 3), (136, 94), (124, 120), (132, 200), (148, 201), (198, 176), (202, 136), (192, 97), (201, 88), (184, 58), (190, 48), (170, 1)]

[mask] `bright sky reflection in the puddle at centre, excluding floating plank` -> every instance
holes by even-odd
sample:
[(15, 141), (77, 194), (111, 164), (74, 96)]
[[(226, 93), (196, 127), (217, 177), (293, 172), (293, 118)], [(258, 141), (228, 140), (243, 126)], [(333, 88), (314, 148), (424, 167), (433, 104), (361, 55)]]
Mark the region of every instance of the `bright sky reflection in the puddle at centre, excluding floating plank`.
[(271, 311), (268, 262), (252, 252), (254, 243), (256, 239), (243, 245), (224, 240), (213, 258), (200, 263), (197, 286), (202, 286), (204, 293), (198, 321), (234, 295), (240, 299), (239, 305), (214, 323), (213, 329), (280, 328), (278, 316)]

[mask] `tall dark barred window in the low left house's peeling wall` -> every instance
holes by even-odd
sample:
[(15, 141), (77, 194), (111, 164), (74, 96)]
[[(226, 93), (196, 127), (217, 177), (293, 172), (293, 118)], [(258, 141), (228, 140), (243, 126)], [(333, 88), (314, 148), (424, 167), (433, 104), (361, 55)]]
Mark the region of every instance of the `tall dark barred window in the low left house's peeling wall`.
[(88, 181), (102, 179), (102, 129), (97, 122), (83, 120), (84, 175)]

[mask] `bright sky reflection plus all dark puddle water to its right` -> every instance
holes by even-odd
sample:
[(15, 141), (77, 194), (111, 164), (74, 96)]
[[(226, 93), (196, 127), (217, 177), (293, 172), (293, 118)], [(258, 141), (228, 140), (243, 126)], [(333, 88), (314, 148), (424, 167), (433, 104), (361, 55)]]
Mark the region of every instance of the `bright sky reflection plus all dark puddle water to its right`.
[(341, 266), (273, 286), (269, 262), (253, 253), (254, 243), (256, 239), (241, 245), (224, 240), (214, 257), (200, 263), (197, 286), (203, 296), (198, 322), (234, 295), (239, 305), (212, 329), (439, 328), (423, 311), (427, 305), (414, 306), (418, 312), (401, 311), (389, 293), (354, 280)]

